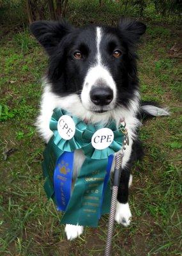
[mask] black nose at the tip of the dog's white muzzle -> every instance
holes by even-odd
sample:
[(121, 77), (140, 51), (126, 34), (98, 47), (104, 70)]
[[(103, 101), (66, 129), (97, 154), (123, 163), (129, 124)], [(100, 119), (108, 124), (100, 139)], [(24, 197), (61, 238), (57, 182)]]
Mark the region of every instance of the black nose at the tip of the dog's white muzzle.
[(95, 105), (109, 105), (113, 99), (113, 92), (109, 87), (94, 87), (90, 92), (90, 98)]

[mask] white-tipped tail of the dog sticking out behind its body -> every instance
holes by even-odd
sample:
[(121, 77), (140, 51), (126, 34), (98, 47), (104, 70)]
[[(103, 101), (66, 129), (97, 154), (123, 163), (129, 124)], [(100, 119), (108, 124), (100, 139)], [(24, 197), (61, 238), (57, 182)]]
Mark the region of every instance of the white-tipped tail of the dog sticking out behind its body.
[(170, 115), (168, 108), (161, 108), (156, 102), (142, 101), (140, 103), (140, 116), (144, 120), (153, 116), (168, 116)]

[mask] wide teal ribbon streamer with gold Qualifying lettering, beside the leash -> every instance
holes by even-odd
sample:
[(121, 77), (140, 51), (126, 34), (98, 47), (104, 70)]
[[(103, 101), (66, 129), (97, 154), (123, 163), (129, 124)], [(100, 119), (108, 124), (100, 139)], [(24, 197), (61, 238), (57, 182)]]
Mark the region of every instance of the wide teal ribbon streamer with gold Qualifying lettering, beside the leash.
[[(97, 227), (100, 207), (102, 207), (100, 200), (106, 166), (105, 159), (93, 161), (86, 157), (61, 223)], [(107, 204), (104, 206), (107, 208), (107, 213), (110, 210), (110, 199), (111, 195), (108, 193), (107, 200), (105, 200)]]

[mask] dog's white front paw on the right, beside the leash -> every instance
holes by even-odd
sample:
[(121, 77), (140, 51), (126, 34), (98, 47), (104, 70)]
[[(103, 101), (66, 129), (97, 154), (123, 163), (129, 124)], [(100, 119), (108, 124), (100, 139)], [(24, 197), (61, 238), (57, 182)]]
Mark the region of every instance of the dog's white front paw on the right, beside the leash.
[(128, 227), (130, 225), (130, 221), (132, 218), (132, 214), (130, 212), (129, 204), (121, 204), (117, 202), (116, 204), (116, 214), (115, 214), (115, 220), (122, 224), (125, 227)]

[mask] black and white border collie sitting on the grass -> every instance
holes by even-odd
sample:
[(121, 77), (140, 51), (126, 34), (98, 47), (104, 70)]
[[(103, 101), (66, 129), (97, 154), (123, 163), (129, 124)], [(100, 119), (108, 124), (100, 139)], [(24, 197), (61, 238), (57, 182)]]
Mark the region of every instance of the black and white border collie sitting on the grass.
[[(142, 113), (168, 115), (166, 109), (140, 102), (137, 78), (136, 47), (146, 31), (141, 22), (121, 19), (118, 26), (74, 28), (67, 22), (37, 21), (31, 32), (49, 54), (49, 68), (43, 79), (40, 115), (36, 125), (45, 142), (52, 136), (49, 121), (54, 108), (63, 108), (92, 124), (106, 125), (110, 118), (119, 125), (126, 121), (130, 145), (123, 157), (115, 220), (130, 224), (128, 188), (132, 184), (130, 169), (141, 155), (137, 139)], [(75, 151), (74, 178), (84, 161), (81, 150)], [(112, 166), (112, 170), (114, 166)], [(69, 240), (82, 234), (79, 225), (66, 225)]]

